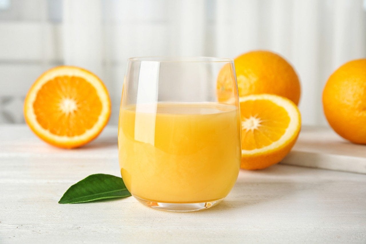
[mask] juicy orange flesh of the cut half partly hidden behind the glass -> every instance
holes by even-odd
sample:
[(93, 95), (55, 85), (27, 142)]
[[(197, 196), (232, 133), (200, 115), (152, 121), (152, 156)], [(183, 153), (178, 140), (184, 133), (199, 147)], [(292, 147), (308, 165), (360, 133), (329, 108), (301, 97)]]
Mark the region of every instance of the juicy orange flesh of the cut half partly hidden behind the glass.
[(256, 129), (242, 126), (242, 149), (263, 148), (280, 139), (290, 123), (286, 110), (272, 101), (248, 100), (240, 103), (240, 118), (243, 122), (254, 117), (260, 120)]

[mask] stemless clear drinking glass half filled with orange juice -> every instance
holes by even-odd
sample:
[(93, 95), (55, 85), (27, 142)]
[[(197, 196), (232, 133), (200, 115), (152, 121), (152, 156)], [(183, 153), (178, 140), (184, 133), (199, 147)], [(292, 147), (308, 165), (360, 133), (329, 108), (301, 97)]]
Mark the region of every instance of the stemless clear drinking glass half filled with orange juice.
[(146, 206), (195, 211), (222, 201), (241, 159), (234, 61), (130, 58), (118, 126), (121, 175)]

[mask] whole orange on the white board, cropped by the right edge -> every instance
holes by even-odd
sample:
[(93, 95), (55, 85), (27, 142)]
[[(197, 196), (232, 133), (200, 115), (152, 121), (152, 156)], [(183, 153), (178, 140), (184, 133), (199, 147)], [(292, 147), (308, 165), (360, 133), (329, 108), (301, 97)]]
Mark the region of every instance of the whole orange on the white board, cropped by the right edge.
[(341, 137), (366, 144), (366, 59), (347, 62), (330, 75), (323, 90), (323, 109)]

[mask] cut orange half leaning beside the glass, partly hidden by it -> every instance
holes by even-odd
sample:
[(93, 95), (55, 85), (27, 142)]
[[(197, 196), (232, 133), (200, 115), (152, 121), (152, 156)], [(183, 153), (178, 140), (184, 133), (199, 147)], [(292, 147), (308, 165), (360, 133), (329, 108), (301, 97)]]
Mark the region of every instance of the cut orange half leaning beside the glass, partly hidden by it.
[(300, 132), (300, 112), (291, 100), (269, 94), (240, 97), (243, 169), (264, 169), (290, 152)]

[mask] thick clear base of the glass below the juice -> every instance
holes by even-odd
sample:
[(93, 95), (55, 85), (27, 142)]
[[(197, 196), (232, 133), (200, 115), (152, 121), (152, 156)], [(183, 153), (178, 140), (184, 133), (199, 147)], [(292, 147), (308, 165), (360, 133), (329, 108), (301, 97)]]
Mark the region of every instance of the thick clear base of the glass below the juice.
[(210, 202), (203, 202), (203, 203), (158, 203), (158, 202), (151, 202), (149, 200), (142, 199), (140, 197), (134, 196), (140, 203), (146, 205), (147, 207), (159, 209), (159, 210), (165, 210), (165, 211), (172, 211), (172, 212), (191, 212), (191, 211), (197, 211), (202, 210), (205, 208), (210, 208), (215, 205), (217, 205), (219, 202), (224, 200), (224, 198), (221, 198), (216, 201), (210, 201)]

